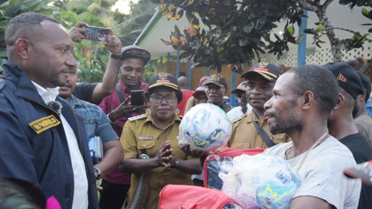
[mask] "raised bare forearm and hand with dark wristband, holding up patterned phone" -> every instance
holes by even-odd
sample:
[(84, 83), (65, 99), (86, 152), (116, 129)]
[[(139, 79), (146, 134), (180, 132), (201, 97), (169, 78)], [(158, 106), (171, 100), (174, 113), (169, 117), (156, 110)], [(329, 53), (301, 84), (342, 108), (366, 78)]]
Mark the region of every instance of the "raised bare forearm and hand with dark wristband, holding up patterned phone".
[[(109, 37), (107, 42), (101, 42), (110, 51), (110, 54), (120, 54), (121, 41), (118, 36), (112, 35), (112, 30), (109, 28)], [(97, 84), (93, 90), (92, 99), (90, 102), (98, 102), (103, 97), (108, 96), (115, 90), (116, 81), (118, 80), (118, 73), (120, 68), (120, 59), (109, 58), (105, 74), (102, 78), (102, 83)]]

